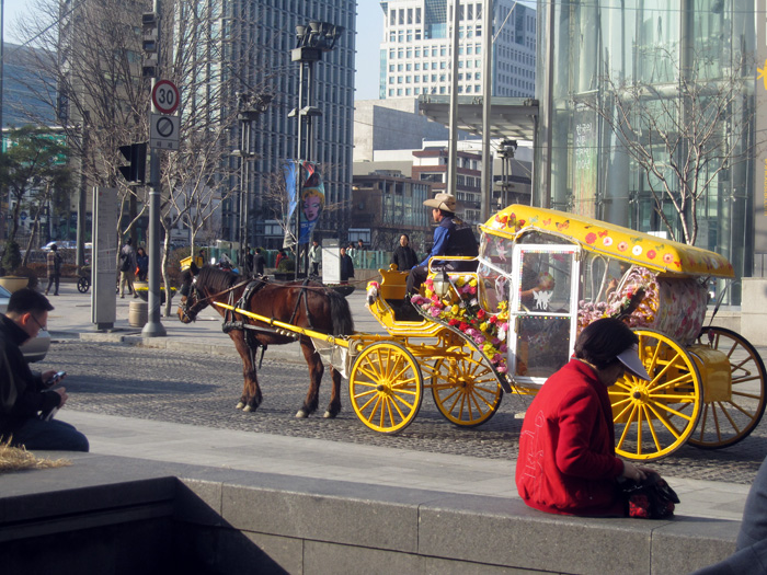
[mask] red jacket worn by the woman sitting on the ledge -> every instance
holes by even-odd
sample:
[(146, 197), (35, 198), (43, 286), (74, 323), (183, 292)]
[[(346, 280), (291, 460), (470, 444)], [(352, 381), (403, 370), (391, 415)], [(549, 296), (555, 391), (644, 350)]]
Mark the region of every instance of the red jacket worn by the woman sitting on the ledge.
[(607, 388), (577, 359), (551, 376), (533, 400), (519, 436), (516, 484), (530, 507), (560, 515), (623, 515), (616, 479)]

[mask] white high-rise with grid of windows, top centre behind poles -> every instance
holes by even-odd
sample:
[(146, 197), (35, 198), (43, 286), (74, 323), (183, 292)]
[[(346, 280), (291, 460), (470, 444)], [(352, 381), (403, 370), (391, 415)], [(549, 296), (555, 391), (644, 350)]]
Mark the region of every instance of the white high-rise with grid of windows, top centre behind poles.
[[(483, 4), (459, 3), (459, 94), (482, 93)], [(533, 97), (536, 11), (514, 0), (493, 4), (493, 95)], [(454, 0), (381, 0), (381, 100), (450, 93), (453, 7)]]

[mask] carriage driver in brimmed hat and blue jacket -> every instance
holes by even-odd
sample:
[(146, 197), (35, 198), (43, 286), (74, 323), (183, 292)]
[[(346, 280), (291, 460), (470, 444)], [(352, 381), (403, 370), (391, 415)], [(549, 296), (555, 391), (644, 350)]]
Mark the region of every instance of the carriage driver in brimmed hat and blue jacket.
[[(428, 260), (440, 255), (468, 255), (477, 257), (479, 249), (471, 226), (456, 217), (456, 198), (450, 194), (437, 194), (423, 203), (432, 208), (432, 217), (437, 223), (434, 230), (434, 246), (426, 258), (413, 266), (408, 274), (407, 294), (417, 294), (421, 284), (428, 275)], [(448, 271), (470, 272), (477, 269), (477, 262), (446, 262)]]

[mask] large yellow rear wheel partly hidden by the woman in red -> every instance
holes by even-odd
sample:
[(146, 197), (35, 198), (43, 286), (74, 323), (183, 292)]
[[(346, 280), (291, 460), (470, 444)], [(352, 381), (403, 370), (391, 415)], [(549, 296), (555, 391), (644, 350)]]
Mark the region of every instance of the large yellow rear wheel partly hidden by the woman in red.
[(668, 456), (690, 437), (701, 409), (700, 373), (675, 340), (654, 330), (634, 330), (639, 358), (652, 380), (626, 373), (609, 389), (616, 453), (648, 460)]

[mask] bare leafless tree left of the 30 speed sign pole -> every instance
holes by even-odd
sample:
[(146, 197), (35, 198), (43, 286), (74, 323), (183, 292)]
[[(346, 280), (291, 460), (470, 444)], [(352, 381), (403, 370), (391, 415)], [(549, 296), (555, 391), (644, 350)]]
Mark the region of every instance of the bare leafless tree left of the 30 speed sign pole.
[[(25, 85), (31, 99), (54, 112), (70, 158), (80, 166), (81, 188), (117, 188), (121, 216), (130, 211), (128, 229), (145, 196), (118, 177), (125, 163), (118, 148), (147, 139), (149, 79), (141, 78), (136, 31), (140, 13), (150, 8), (148, 0), (33, 0), (32, 10), (15, 23), (15, 35), (37, 48), (26, 55), (28, 68), (37, 72)], [(31, 123), (49, 122), (49, 114), (35, 107), (24, 112)]]

